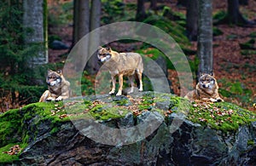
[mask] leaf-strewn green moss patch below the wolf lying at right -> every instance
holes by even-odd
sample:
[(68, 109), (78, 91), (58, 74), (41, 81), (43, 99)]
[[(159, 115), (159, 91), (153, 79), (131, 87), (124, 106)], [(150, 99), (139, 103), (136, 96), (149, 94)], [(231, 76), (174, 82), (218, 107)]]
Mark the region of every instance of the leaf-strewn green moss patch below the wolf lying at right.
[(194, 103), (189, 109), (188, 119), (212, 129), (228, 132), (237, 130), (241, 125), (256, 121), (256, 114), (226, 102)]

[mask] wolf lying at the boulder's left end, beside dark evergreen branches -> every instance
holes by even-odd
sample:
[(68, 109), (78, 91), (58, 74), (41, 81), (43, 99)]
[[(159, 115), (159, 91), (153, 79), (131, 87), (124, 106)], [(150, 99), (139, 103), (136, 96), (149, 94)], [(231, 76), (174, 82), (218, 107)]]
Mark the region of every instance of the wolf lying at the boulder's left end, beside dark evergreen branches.
[(54, 72), (49, 70), (46, 77), (48, 90), (45, 90), (39, 102), (44, 101), (59, 101), (69, 98), (70, 83), (63, 77), (61, 70)]

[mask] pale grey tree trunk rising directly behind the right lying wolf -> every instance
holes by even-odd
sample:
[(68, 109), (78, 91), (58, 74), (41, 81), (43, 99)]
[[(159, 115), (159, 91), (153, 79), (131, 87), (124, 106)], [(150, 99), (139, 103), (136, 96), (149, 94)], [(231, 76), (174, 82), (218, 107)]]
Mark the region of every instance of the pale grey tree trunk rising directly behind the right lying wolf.
[(198, 43), (197, 55), (200, 60), (199, 73), (212, 72), (212, 0), (198, 0)]

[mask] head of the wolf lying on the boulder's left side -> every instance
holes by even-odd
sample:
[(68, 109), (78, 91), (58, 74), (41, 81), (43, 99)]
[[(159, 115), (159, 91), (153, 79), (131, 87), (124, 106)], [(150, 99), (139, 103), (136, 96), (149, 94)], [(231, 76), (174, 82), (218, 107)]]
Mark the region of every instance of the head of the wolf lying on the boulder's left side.
[(48, 70), (47, 77), (46, 77), (46, 83), (49, 86), (61, 85), (61, 76), (62, 76), (61, 70), (58, 70), (57, 72)]

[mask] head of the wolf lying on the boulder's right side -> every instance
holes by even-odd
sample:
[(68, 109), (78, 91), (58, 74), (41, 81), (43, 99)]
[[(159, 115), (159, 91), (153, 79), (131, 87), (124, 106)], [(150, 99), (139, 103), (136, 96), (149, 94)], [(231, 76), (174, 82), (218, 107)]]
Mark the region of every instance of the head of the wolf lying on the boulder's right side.
[(217, 88), (216, 79), (212, 74), (201, 74), (199, 78), (199, 85), (201, 89), (215, 89)]

